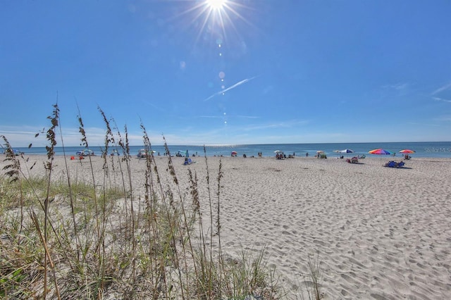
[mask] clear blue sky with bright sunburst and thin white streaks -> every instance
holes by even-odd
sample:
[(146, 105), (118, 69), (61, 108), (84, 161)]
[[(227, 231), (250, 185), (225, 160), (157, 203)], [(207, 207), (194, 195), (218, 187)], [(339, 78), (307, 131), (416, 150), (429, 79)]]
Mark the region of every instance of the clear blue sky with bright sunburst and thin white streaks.
[(0, 135), (58, 101), (66, 146), (99, 107), (133, 145), (451, 140), (451, 1), (210, 2), (0, 1)]

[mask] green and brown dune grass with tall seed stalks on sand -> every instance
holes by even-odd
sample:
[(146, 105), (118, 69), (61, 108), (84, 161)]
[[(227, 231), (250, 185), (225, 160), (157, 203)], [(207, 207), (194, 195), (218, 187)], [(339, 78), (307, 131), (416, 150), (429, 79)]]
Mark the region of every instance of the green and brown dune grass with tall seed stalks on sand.
[[(32, 177), (29, 170), (35, 165), (11, 151), (6, 154), (0, 176), (0, 298), (283, 299), (264, 249), (257, 257), (243, 251), (239, 258), (223, 251), (221, 162), (215, 182), (204, 151), (209, 199), (200, 201), (196, 173), (188, 170), (190, 192), (185, 194), (171, 156), (165, 170), (147, 156), (145, 192), (137, 194), (127, 127), (113, 132), (114, 121), (99, 112), (106, 125), (105, 154), (110, 147), (123, 153), (101, 156), (101, 182), (90, 156), (90, 178), (71, 177), (66, 160), (66, 177), (54, 177), (54, 147), (64, 146), (57, 105), (44, 132), (45, 174)], [(78, 120), (81, 144), (89, 147), (82, 118)], [(144, 147), (150, 150), (141, 127)], [(163, 185), (163, 177), (173, 185)]]

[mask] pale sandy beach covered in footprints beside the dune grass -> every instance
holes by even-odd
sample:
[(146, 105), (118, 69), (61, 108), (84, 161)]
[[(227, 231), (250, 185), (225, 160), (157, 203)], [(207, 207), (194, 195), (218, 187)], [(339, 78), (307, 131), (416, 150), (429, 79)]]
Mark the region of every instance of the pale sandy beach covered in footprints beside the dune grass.
[[(45, 172), (40, 161), (46, 158), (30, 156), (27, 165), (38, 163), (29, 175)], [(188, 185), (188, 169), (197, 174), (206, 210), (206, 158), (192, 158), (191, 165), (172, 159), (181, 187)], [(359, 163), (313, 157), (207, 159), (214, 187), (222, 161), (223, 251), (258, 253), (265, 247), (287, 299), (299, 299), (309, 256), (321, 263), (324, 299), (450, 298), (451, 159), (412, 158), (404, 168), (383, 167), (390, 156)], [(166, 173), (168, 158), (155, 160)], [(65, 177), (63, 157), (55, 163), (54, 178)], [(73, 179), (92, 182), (89, 159), (67, 163)], [(92, 157), (97, 182), (104, 178), (103, 163)], [(135, 196), (144, 193), (144, 169), (145, 161), (131, 158)], [(117, 163), (109, 165), (109, 173), (109, 184), (119, 182)], [(163, 183), (171, 185), (171, 179)]]

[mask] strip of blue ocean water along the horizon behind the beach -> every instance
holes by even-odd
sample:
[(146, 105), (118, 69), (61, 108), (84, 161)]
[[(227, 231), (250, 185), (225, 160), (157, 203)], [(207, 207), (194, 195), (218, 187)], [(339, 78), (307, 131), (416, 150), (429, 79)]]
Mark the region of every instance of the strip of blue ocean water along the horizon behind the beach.
[[(130, 146), (130, 154), (135, 156), (143, 146)], [(412, 157), (431, 157), (431, 158), (451, 158), (451, 142), (397, 142), (397, 143), (330, 143), (330, 144), (236, 144), (236, 145), (217, 145), (205, 146), (206, 156), (230, 156), (232, 151), (237, 151), (237, 156), (246, 154), (247, 157), (258, 156), (259, 152), (263, 156), (275, 156), (274, 151), (283, 151), (285, 154), (295, 154), (295, 156), (314, 156), (316, 151), (324, 151), (328, 157), (337, 157), (340, 154), (335, 153), (335, 150), (352, 149), (354, 154), (344, 154), (345, 156), (363, 155), (375, 156), (368, 152), (373, 149), (382, 148), (390, 151), (395, 156), (402, 156), (399, 153), (402, 149), (411, 149), (416, 151), (410, 154)], [(31, 147), (31, 148), (14, 148), (25, 154), (47, 154), (45, 147)], [(68, 156), (75, 154), (76, 151), (83, 149), (82, 147), (56, 147), (56, 155), (66, 154)], [(104, 149), (102, 146), (89, 147), (95, 154), (100, 155)], [(109, 148), (109, 153), (113, 153), (113, 147)], [(120, 155), (123, 151), (116, 148)], [(171, 155), (177, 154), (178, 151), (185, 155), (188, 151), (190, 156), (192, 154), (197, 156), (204, 156), (204, 146), (198, 145), (168, 145)], [(166, 151), (164, 146), (152, 146), (155, 151), (154, 155), (163, 155)]]

